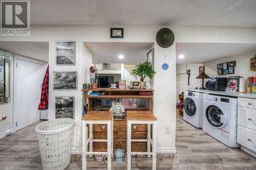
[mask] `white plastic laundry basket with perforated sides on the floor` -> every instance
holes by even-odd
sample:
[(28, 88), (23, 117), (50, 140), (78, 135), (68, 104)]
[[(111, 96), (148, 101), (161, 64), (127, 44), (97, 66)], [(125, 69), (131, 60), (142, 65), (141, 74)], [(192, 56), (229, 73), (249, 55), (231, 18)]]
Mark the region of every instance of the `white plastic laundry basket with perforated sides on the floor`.
[(44, 170), (62, 170), (69, 165), (74, 125), (71, 118), (58, 118), (35, 128)]

